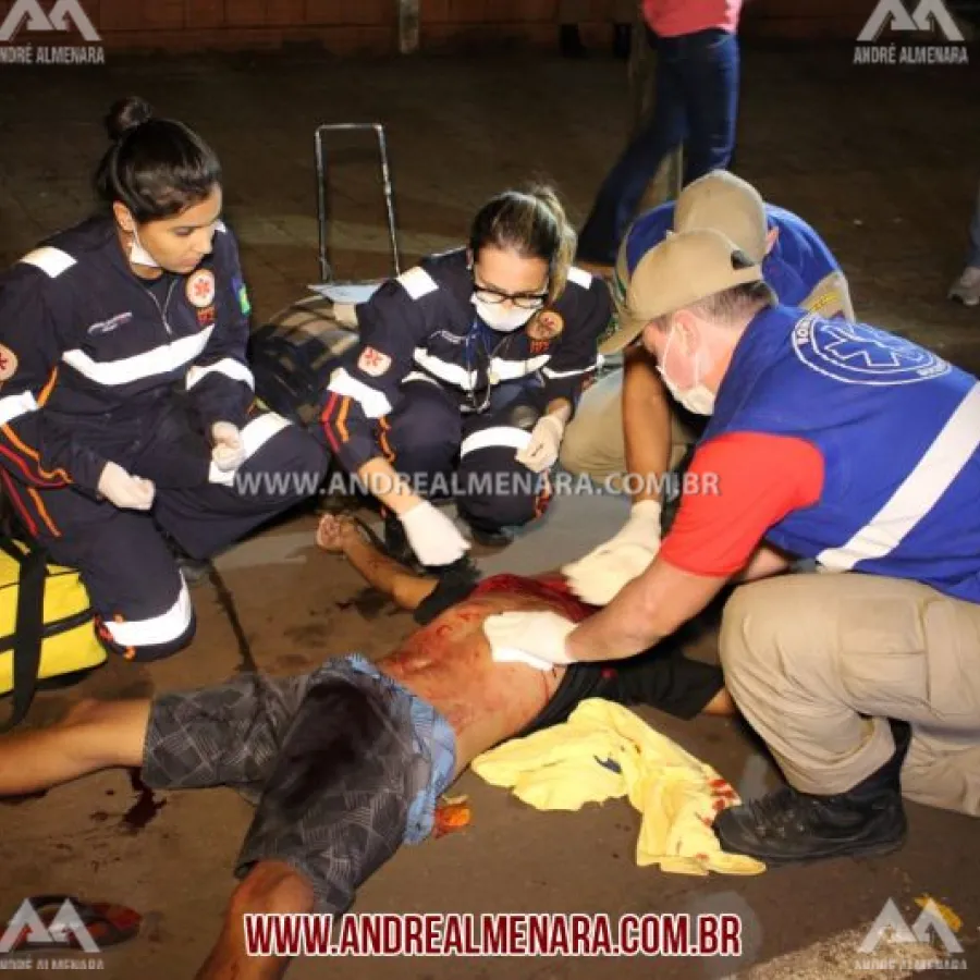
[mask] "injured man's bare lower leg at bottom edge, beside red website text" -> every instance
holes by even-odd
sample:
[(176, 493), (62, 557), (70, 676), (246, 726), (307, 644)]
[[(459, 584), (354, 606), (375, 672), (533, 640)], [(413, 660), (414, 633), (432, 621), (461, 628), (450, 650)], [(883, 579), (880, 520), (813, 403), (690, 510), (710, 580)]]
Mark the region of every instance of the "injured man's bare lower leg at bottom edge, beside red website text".
[(313, 910), (309, 882), (289, 865), (260, 861), (235, 889), (218, 942), (195, 980), (279, 980), (290, 959), (284, 956), (248, 956), (245, 915), (283, 915)]

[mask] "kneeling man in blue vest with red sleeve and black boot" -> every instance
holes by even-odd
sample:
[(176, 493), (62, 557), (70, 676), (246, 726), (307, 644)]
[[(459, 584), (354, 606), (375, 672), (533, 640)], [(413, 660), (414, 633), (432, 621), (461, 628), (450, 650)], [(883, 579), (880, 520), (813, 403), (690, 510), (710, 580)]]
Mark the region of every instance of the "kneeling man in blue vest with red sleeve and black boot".
[[(725, 683), (787, 784), (722, 812), (772, 863), (883, 854), (905, 796), (980, 816), (980, 382), (903, 338), (779, 306), (720, 232), (639, 264), (607, 351), (640, 339), (710, 415), (657, 559), (578, 626), (485, 623), (551, 663), (634, 656), (728, 581)], [(795, 558), (822, 572), (773, 578)], [(904, 723), (904, 724), (903, 724)]]

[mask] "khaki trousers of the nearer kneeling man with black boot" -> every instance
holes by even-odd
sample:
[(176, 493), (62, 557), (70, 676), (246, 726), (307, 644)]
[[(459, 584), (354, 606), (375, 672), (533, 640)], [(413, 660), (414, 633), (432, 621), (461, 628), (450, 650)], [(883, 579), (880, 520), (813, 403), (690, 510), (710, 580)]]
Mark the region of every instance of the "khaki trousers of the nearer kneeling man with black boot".
[(980, 604), (914, 581), (792, 575), (739, 588), (722, 622), (725, 683), (786, 780), (843, 793), (911, 723), (910, 799), (980, 816)]

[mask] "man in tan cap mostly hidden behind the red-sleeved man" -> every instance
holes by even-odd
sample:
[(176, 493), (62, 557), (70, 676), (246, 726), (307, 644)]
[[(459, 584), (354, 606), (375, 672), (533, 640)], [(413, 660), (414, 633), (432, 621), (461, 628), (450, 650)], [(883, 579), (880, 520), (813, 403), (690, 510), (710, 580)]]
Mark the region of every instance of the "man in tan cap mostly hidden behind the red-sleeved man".
[[(820, 235), (723, 170), (689, 184), (676, 204), (637, 219), (616, 265), (613, 295), (618, 307), (625, 284), (650, 249), (671, 231), (695, 228), (718, 229), (761, 261), (781, 303), (854, 319), (847, 281)], [(694, 412), (679, 408), (642, 346), (627, 351), (624, 370), (607, 375), (579, 403), (562, 444), (562, 466), (627, 492), (634, 501), (629, 520), (615, 537), (564, 569), (587, 602), (609, 602), (657, 554), (664, 473), (679, 464), (703, 429), (697, 406)]]

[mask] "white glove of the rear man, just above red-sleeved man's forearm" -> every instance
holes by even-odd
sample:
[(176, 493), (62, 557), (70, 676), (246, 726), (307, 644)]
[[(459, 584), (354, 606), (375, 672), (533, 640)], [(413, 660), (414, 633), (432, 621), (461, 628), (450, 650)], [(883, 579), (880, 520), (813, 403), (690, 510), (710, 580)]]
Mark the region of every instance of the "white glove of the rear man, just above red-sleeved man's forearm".
[(572, 591), (590, 605), (607, 605), (627, 583), (642, 575), (660, 551), (660, 504), (641, 500), (605, 543), (565, 565)]

